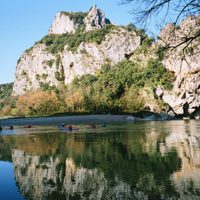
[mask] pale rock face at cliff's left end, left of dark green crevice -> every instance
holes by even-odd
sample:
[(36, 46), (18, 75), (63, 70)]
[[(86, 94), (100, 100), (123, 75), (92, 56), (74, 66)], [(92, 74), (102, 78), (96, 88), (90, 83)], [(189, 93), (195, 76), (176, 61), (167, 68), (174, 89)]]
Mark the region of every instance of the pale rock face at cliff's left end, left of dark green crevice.
[(29, 90), (36, 90), (42, 83), (58, 85), (55, 78), (57, 66), (49, 63), (55, 59), (53, 54), (46, 51), (44, 44), (35, 45), (20, 58), (16, 68), (13, 94), (20, 95)]

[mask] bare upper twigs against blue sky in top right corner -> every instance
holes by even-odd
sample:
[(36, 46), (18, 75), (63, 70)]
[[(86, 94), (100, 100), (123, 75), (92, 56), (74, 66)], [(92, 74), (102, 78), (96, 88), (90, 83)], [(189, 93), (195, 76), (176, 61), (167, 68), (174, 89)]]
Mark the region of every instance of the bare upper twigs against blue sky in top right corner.
[(132, 13), (136, 22), (140, 23), (150, 20), (154, 15), (158, 16), (161, 12), (163, 21), (173, 12), (175, 24), (188, 15), (200, 13), (199, 0), (122, 0), (122, 3), (134, 4)]

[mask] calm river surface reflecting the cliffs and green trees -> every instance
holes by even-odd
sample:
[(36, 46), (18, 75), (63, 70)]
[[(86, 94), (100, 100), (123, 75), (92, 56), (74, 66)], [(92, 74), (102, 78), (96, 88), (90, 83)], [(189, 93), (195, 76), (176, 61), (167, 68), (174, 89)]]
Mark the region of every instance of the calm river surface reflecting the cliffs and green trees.
[(0, 134), (0, 199), (200, 199), (200, 121)]

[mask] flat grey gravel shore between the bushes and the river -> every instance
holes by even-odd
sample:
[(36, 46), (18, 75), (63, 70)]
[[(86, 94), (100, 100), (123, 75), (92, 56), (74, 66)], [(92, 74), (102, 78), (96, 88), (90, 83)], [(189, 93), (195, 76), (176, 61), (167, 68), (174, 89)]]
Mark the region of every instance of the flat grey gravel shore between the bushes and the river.
[(87, 123), (113, 123), (126, 122), (128, 115), (82, 115), (62, 117), (27, 117), (0, 119), (0, 126), (24, 126), (24, 125), (58, 125), (66, 124), (87, 124)]

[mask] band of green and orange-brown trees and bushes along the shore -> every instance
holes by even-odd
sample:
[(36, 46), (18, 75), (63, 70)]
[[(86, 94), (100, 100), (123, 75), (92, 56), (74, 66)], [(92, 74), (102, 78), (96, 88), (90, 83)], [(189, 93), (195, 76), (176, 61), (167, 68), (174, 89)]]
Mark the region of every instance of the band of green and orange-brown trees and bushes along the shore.
[[(173, 75), (158, 59), (149, 59), (141, 67), (130, 60), (112, 66), (103, 65), (95, 75), (77, 77), (71, 84), (60, 87), (42, 85), (40, 90), (29, 91), (18, 97), (11, 96), (12, 83), (1, 86), (1, 115), (48, 116), (56, 113), (139, 113), (149, 111), (145, 107), (150, 95), (160, 86), (171, 90)], [(160, 111), (164, 104), (160, 99)]]

